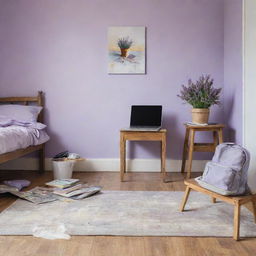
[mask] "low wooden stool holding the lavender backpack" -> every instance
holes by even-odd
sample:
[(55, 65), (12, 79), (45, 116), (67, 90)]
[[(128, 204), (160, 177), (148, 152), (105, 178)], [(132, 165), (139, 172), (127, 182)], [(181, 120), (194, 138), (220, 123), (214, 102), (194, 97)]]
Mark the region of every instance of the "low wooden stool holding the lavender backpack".
[(186, 185), (185, 195), (183, 197), (180, 211), (184, 211), (186, 202), (188, 200), (188, 196), (190, 190), (193, 189), (195, 191), (204, 193), (212, 197), (212, 202), (216, 202), (216, 198), (220, 199), (224, 202), (234, 205), (234, 233), (233, 238), (235, 240), (239, 240), (239, 229), (240, 229), (240, 208), (243, 204), (251, 202), (253, 214), (254, 214), (254, 221), (256, 222), (256, 194), (255, 195), (247, 195), (247, 196), (223, 196), (213, 191), (210, 191), (206, 188), (201, 187), (194, 179), (184, 181)]

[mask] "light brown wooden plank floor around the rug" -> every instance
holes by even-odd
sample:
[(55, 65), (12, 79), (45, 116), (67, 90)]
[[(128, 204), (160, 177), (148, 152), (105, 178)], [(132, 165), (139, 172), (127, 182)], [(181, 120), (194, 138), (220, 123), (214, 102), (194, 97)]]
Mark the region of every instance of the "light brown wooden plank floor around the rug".
[[(26, 178), (32, 186), (43, 185), (52, 179), (52, 173), (1, 171), (0, 179)], [(196, 175), (196, 174), (194, 174)], [(90, 184), (101, 185), (105, 190), (184, 190), (183, 176), (171, 174), (169, 183), (163, 183), (159, 173), (127, 174), (126, 182), (119, 182), (114, 172), (75, 173), (75, 178)], [(14, 202), (15, 198), (0, 195), (0, 210)], [(0, 227), (1, 228), (1, 227)], [(113, 237), (73, 236), (70, 240), (45, 240), (31, 236), (0, 236), (0, 255), (50, 255), (50, 256), (254, 256), (256, 239), (236, 242), (231, 238), (194, 237)]]

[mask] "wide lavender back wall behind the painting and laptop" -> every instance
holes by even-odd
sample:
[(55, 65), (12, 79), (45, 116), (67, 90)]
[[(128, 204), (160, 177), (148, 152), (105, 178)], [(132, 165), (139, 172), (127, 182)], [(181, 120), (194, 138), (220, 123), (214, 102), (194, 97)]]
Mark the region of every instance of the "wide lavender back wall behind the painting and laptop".
[[(147, 27), (147, 74), (107, 74), (107, 28)], [(223, 0), (0, 0), (0, 94), (46, 94), (47, 155), (117, 158), (130, 105), (161, 104), (168, 157), (180, 159), (190, 107), (180, 85), (202, 73), (223, 85)], [(231, 86), (231, 85), (230, 85)], [(223, 121), (213, 107), (211, 121)], [(131, 157), (156, 158), (154, 143)]]

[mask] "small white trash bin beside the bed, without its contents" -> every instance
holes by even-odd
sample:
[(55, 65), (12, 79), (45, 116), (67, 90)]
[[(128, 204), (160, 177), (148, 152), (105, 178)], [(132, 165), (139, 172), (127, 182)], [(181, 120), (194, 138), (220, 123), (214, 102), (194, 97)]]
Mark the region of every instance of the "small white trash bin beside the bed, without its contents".
[(73, 174), (75, 160), (53, 159), (53, 176), (54, 179), (71, 179)]

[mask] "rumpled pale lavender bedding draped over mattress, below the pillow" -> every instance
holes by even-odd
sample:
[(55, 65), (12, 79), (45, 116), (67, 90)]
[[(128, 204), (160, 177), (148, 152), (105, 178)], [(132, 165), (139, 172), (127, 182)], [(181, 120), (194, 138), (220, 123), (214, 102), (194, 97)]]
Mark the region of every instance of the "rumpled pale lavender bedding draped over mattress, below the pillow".
[(0, 154), (45, 143), (49, 140), (45, 130), (11, 125), (0, 127)]

